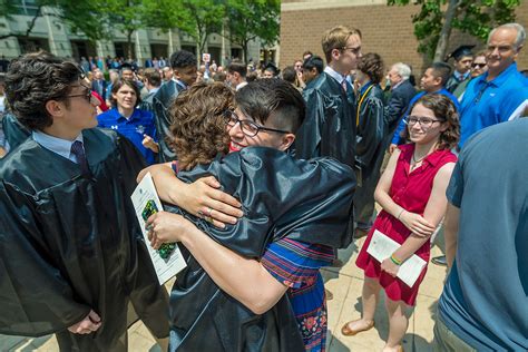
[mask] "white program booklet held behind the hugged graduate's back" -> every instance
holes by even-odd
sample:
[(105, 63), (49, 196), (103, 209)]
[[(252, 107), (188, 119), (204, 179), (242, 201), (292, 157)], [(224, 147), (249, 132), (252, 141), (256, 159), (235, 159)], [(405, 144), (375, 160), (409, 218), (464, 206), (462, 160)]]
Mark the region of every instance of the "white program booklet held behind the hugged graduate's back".
[(163, 258), (158, 251), (155, 251), (149, 245), (147, 231), (145, 229), (145, 223), (148, 217), (159, 211), (163, 211), (162, 202), (159, 201), (156, 187), (154, 186), (153, 176), (148, 173), (137, 185), (136, 189), (131, 195), (134, 208), (136, 211), (139, 226), (141, 226), (143, 236), (150, 254), (150, 260), (154, 263), (154, 268), (158, 275), (159, 284), (165, 284), (169, 278), (179, 273), (187, 264), (185, 263), (182, 252), (179, 252), (178, 245), (175, 244), (175, 248), (170, 254)]

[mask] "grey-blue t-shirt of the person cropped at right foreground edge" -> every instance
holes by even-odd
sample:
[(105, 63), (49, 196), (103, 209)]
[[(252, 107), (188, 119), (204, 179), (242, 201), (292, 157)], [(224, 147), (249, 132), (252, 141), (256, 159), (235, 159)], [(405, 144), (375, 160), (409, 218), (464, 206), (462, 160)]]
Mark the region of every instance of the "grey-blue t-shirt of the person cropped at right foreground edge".
[(458, 246), (438, 307), (478, 351), (528, 351), (528, 119), (468, 140), (447, 190)]

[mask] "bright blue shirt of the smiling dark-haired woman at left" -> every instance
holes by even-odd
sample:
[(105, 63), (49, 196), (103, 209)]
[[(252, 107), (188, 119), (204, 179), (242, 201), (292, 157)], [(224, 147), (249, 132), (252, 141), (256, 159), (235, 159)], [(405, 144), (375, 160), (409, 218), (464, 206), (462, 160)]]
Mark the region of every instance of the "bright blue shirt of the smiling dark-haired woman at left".
[(114, 108), (97, 116), (97, 119), (99, 120), (99, 127), (115, 129), (128, 138), (139, 149), (148, 165), (155, 163), (155, 153), (145, 148), (141, 144), (143, 135), (150, 136), (156, 140), (156, 126), (154, 125), (153, 113), (135, 109), (130, 118), (127, 119), (119, 114), (117, 108)]

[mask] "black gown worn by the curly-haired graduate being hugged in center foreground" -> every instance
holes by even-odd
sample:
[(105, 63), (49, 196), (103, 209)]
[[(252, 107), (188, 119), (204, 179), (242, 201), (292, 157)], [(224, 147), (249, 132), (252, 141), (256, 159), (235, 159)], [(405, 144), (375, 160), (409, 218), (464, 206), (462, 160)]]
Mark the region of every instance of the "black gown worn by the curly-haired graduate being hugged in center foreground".
[[(292, 239), (345, 247), (354, 174), (324, 158), (295, 160), (271, 148), (244, 148), (211, 165), (178, 173), (185, 182), (214, 175), (239, 198), (244, 217), (219, 229), (184, 214), (222, 245), (260, 258), (271, 241)], [(178, 208), (172, 212), (180, 213)], [(304, 351), (289, 299), (256, 315), (223, 292), (183, 247), (187, 267), (170, 293), (172, 351)]]

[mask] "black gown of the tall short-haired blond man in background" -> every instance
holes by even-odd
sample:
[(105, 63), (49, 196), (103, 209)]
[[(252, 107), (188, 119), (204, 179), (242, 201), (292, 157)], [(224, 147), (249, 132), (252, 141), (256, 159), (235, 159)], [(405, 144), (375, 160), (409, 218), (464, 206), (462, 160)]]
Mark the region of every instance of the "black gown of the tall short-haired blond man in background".
[(355, 98), (326, 72), (303, 92), (306, 117), (295, 139), (295, 156), (331, 156), (351, 167), (355, 149)]

